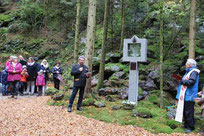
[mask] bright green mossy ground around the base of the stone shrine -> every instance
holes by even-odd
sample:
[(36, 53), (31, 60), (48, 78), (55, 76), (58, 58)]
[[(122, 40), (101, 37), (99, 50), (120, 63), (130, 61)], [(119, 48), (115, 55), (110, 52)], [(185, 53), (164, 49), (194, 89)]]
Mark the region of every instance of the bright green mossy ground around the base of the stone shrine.
[[(143, 127), (153, 133), (184, 133), (185, 129), (181, 128), (181, 124), (170, 120), (166, 117), (166, 110), (160, 109), (157, 105), (150, 101), (140, 101), (137, 108), (133, 110), (139, 110), (145, 113), (151, 113), (152, 118), (140, 118), (131, 117), (132, 111), (129, 110), (111, 110), (114, 105), (122, 105), (122, 101), (116, 100), (116, 102), (105, 102), (106, 107), (95, 108), (94, 106), (83, 107), (82, 112), (76, 112), (77, 114), (86, 116), (88, 118), (94, 118), (107, 123), (117, 123), (120, 125), (134, 125), (137, 127)], [(176, 128), (171, 128), (172, 126)], [(196, 130), (199, 132), (200, 125), (196, 123)]]

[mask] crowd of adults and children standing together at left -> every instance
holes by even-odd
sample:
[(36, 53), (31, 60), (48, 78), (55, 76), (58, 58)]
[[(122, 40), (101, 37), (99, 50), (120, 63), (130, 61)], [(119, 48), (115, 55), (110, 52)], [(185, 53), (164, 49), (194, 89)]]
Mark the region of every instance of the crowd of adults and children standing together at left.
[(5, 64), (5, 69), (0, 73), (0, 83), (2, 83), (2, 95), (11, 94), (11, 98), (17, 98), (17, 95), (38, 96), (45, 93), (49, 73), (53, 73), (55, 88), (59, 90), (60, 80), (58, 76), (62, 74), (60, 63), (56, 62), (52, 71), (49, 69), (47, 60), (40, 63), (37, 57), (29, 57), (26, 61), (21, 55), (19, 57), (10, 56)]

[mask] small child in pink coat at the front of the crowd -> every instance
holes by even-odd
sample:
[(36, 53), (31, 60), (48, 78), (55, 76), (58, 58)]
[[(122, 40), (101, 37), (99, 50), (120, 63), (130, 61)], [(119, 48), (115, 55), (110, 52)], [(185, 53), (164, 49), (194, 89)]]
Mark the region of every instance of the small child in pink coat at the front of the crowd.
[(38, 76), (36, 79), (36, 86), (38, 87), (38, 96), (42, 96), (42, 89), (45, 86), (45, 77), (43, 75), (43, 70), (38, 72)]

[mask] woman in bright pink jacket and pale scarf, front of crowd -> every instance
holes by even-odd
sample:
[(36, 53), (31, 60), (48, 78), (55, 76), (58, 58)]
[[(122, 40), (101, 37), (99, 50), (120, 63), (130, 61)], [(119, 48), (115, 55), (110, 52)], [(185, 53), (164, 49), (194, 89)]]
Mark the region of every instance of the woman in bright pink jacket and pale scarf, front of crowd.
[(8, 78), (9, 85), (11, 86), (11, 98), (17, 98), (18, 84), (21, 80), (22, 65), (18, 62), (18, 58), (13, 56), (12, 63), (8, 66)]

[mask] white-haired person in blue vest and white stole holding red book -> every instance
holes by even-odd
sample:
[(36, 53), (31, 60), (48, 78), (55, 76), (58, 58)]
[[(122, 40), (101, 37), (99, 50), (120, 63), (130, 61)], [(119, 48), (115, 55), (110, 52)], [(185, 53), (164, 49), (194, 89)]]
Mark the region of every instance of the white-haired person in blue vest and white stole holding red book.
[[(185, 133), (190, 133), (193, 131), (195, 120), (194, 120), (194, 98), (198, 97), (198, 83), (199, 83), (199, 73), (200, 70), (197, 69), (197, 63), (194, 59), (188, 59), (186, 62), (186, 73), (183, 76), (178, 89), (176, 99), (180, 98), (180, 90), (181, 86), (187, 86), (185, 97), (184, 97), (184, 110), (183, 110), (183, 117), (184, 117), (184, 127), (187, 129)], [(185, 76), (192, 71), (188, 80), (185, 80)]]

